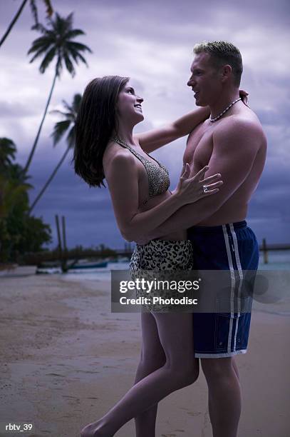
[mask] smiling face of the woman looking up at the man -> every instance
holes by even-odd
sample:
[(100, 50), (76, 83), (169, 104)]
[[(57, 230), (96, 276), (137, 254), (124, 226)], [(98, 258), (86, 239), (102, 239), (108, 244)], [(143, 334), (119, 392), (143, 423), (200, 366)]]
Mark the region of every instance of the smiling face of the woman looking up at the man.
[(134, 125), (143, 121), (142, 102), (142, 97), (135, 93), (135, 89), (130, 84), (130, 81), (128, 81), (118, 97), (117, 114), (119, 120), (127, 123), (130, 122)]

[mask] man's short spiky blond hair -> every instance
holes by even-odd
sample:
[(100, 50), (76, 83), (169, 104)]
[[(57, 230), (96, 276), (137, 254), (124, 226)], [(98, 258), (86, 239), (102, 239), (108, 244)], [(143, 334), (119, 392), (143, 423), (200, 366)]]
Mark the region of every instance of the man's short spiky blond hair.
[(216, 68), (228, 64), (232, 67), (234, 84), (239, 86), (243, 72), (242, 55), (234, 44), (227, 41), (204, 41), (195, 44), (193, 48), (195, 54), (208, 53)]

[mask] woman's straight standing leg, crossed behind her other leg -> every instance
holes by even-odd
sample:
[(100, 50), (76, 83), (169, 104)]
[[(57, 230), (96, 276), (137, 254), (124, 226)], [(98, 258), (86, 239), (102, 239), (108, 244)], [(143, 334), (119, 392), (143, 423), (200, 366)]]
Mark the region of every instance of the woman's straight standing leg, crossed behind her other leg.
[[(157, 324), (151, 313), (141, 313), (142, 351), (135, 383), (165, 365)], [(157, 403), (135, 417), (136, 437), (155, 437)]]

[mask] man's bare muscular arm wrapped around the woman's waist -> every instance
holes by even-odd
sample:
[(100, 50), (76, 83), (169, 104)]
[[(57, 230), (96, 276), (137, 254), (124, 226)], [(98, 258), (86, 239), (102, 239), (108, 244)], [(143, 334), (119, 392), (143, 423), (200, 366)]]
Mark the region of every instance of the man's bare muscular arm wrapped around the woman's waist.
[(261, 131), (251, 121), (231, 120), (213, 134), (213, 151), (207, 176), (222, 174), (224, 184), (217, 194), (200, 199), (179, 209), (150, 235), (140, 229), (140, 240), (164, 236), (176, 229), (194, 226), (212, 216), (233, 194), (249, 175), (254, 158), (261, 144)]

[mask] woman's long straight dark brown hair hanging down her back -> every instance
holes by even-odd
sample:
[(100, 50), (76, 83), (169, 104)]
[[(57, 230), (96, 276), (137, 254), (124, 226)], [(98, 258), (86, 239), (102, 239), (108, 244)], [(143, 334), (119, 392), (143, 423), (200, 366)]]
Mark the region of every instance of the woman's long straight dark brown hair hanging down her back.
[(89, 186), (105, 186), (103, 154), (113, 131), (118, 131), (116, 105), (128, 77), (104, 76), (90, 81), (76, 119), (73, 163)]

